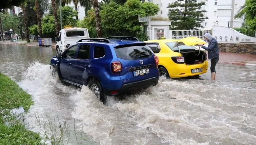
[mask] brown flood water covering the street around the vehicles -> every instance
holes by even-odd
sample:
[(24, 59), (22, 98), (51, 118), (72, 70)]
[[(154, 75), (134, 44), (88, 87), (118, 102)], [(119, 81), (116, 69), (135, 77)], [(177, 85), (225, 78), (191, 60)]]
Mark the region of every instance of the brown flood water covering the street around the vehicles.
[(32, 95), (26, 127), (42, 136), (53, 122), (68, 124), (64, 142), (74, 145), (256, 143), (256, 67), (217, 64), (216, 82), (209, 71), (199, 80), (161, 78), (155, 87), (103, 105), (87, 87), (52, 77), (54, 55), (51, 47), (0, 43), (0, 71)]

